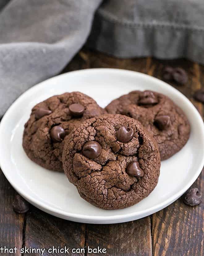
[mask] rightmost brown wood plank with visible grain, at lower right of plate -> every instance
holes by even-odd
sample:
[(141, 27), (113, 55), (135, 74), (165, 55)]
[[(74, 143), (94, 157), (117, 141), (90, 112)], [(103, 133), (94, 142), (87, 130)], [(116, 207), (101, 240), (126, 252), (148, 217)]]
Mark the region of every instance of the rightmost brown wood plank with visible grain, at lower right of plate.
[[(203, 191), (204, 172), (193, 184)], [(187, 206), (182, 199), (153, 214), (153, 252), (158, 256), (203, 255), (203, 208)]]

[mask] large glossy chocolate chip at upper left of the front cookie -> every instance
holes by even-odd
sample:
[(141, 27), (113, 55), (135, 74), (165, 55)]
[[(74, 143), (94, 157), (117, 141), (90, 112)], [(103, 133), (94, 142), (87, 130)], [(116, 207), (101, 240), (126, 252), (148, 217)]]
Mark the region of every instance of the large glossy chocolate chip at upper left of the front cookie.
[(97, 141), (88, 141), (83, 145), (82, 154), (89, 159), (94, 159), (100, 155), (101, 146)]

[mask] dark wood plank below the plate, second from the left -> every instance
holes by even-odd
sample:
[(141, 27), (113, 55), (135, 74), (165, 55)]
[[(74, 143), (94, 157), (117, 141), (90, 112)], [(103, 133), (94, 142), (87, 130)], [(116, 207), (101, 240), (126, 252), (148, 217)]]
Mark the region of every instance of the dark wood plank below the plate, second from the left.
[[(32, 207), (32, 210), (27, 215), (26, 227), (25, 227), (25, 246), (27, 248), (45, 248), (44, 256), (64, 256), (64, 255), (85, 255), (82, 253), (72, 253), (73, 248), (82, 248), (85, 246), (85, 224), (66, 221), (60, 218), (53, 217), (41, 210)], [(69, 248), (69, 254), (48, 253), (48, 249), (54, 246)], [(84, 249), (85, 251), (85, 249)], [(24, 254), (27, 255), (27, 254)], [(31, 253), (30, 256), (37, 254)], [(39, 255), (39, 254), (38, 254)]]

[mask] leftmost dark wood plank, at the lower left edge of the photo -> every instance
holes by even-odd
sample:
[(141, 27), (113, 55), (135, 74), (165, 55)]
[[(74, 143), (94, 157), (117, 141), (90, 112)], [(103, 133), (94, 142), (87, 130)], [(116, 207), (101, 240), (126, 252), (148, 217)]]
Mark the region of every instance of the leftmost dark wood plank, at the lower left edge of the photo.
[[(15, 190), (11, 187), (0, 169), (0, 248), (17, 248), (16, 253), (0, 254), (20, 256), (20, 248), (23, 244), (24, 214), (17, 214), (12, 209)], [(10, 253), (12, 253), (10, 251)]]

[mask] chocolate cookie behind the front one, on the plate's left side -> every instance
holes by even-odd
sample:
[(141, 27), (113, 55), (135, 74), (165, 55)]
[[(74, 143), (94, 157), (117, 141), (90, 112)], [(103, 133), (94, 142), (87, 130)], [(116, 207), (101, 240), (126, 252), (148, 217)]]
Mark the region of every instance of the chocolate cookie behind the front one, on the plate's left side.
[(33, 107), (25, 124), (23, 148), (32, 161), (63, 172), (62, 150), (68, 134), (84, 120), (105, 112), (81, 92), (50, 97)]

